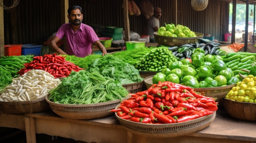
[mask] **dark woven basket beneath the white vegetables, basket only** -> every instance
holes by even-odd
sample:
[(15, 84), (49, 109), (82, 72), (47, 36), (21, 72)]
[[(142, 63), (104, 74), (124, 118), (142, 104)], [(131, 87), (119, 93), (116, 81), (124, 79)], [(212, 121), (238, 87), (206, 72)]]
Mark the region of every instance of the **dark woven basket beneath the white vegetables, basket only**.
[(29, 101), (0, 101), (0, 112), (8, 114), (25, 114), (50, 110), (45, 96)]

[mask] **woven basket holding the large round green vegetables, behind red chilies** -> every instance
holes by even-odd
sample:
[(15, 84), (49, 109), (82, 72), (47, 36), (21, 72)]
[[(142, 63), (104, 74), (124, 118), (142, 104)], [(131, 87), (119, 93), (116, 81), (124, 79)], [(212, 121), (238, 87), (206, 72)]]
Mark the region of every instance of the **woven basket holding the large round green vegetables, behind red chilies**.
[[(149, 76), (144, 79), (144, 83), (146, 84), (147, 88), (153, 85), (152, 82), (153, 76)], [(218, 99), (224, 98), (229, 90), (231, 90), (235, 84), (227, 85), (227, 86), (220, 86), (220, 87), (212, 87), (212, 88), (194, 88), (196, 92), (200, 92), (201, 95), (206, 97), (213, 97)]]

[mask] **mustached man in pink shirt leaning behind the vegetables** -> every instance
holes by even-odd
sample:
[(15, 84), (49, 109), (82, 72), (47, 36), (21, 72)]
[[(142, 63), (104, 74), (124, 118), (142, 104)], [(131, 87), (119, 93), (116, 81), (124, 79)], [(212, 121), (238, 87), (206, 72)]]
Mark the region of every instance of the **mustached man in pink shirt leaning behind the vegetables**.
[[(72, 6), (67, 10), (67, 18), (70, 23), (63, 24), (50, 42), (50, 48), (60, 55), (75, 55), (85, 57), (92, 54), (92, 44), (96, 45), (102, 52), (107, 54), (106, 48), (99, 41), (99, 37), (92, 27), (83, 24), (83, 10), (79, 6)], [(67, 42), (66, 52), (59, 48), (56, 43), (65, 36)]]

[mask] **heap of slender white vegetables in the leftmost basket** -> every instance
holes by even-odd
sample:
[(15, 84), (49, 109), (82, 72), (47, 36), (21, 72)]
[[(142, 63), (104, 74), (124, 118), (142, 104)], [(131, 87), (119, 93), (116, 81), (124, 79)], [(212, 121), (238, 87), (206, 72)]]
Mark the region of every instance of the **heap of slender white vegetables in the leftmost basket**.
[(0, 101), (29, 101), (44, 97), (48, 91), (58, 86), (60, 79), (44, 70), (29, 70), (13, 78), (13, 82), (1, 92)]

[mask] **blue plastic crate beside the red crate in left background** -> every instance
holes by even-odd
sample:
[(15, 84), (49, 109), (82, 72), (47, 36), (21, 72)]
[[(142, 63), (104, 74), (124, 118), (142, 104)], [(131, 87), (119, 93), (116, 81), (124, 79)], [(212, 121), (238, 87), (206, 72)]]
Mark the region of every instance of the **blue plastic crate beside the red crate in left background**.
[(21, 46), (21, 55), (40, 56), (41, 55), (41, 47), (42, 47), (42, 45), (25, 44), (25, 45)]

